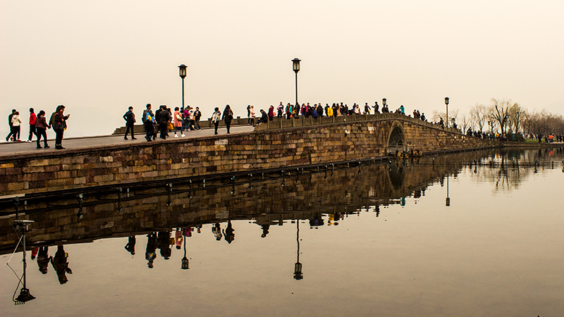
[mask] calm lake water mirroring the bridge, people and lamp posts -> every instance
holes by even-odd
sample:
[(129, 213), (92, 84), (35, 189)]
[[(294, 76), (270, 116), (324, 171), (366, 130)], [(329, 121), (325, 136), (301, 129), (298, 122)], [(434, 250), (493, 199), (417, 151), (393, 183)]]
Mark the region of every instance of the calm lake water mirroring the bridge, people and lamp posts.
[(563, 160), (472, 152), (30, 202), (27, 243), (54, 263), (27, 251), (37, 298), (15, 306), (22, 252), (1, 218), (0, 316), (561, 316)]

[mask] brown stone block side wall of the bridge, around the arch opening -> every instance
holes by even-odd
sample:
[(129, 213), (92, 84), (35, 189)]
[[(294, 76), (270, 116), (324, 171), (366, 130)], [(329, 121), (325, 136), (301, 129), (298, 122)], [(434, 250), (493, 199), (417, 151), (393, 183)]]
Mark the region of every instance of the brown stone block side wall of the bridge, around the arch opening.
[[(378, 158), (388, 154), (388, 139), (396, 127), (403, 130), (406, 144), (424, 152), (496, 145), (399, 116), (336, 118), (347, 118), (347, 122), (14, 155), (0, 161), (0, 195)], [(291, 121), (304, 120), (281, 122)]]

